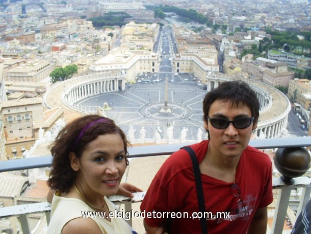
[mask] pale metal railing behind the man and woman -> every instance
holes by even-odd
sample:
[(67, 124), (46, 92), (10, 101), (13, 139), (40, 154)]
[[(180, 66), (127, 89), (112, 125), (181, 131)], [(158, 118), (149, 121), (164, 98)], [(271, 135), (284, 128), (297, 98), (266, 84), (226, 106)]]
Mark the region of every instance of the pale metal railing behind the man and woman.
[[(186, 144), (172, 144), (131, 147), (128, 149), (129, 158), (170, 155), (185, 145)], [(251, 139), (249, 145), (257, 149), (307, 147), (311, 146), (311, 136)], [(51, 159), (51, 155), (47, 155), (33, 158), (0, 161), (0, 172), (49, 167), (51, 166)], [(293, 185), (287, 185), (283, 181), (281, 181), (280, 178), (273, 178), (273, 189), (280, 190), (280, 192), (278, 193), (276, 201), (271, 233), (282, 233), (284, 220), (286, 219), (287, 209), (290, 201), (290, 195), (293, 189), (302, 188), (302, 195), (299, 201), (296, 217), (301, 212), (302, 208), (306, 205), (307, 201), (310, 199), (311, 178), (298, 177), (295, 178), (294, 181), (295, 182)], [(140, 202), (142, 201), (142, 198), (143, 196), (138, 195), (132, 200), (122, 196), (113, 196), (110, 199), (115, 203), (125, 204), (125, 210), (129, 211), (132, 209), (132, 203)], [(39, 202), (20, 206), (10, 206), (0, 208), (0, 218), (17, 216), (21, 223), (23, 233), (30, 233), (27, 215), (46, 212), (46, 220), (48, 222), (49, 211), (50, 206), (47, 202)], [(294, 222), (295, 220), (291, 221)], [(129, 223), (132, 223), (131, 220), (129, 221)]]

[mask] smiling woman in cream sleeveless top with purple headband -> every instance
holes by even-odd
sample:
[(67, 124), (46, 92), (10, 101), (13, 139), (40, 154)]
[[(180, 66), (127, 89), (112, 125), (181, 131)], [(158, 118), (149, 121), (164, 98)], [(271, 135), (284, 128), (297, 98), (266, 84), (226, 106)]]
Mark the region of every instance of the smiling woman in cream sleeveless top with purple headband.
[[(83, 116), (60, 131), (50, 148), (48, 184), (57, 192), (47, 233), (136, 233), (122, 218), (109, 216), (116, 207), (107, 199), (119, 190), (127, 144), (124, 132), (100, 115)], [(140, 191), (129, 184), (120, 190)]]

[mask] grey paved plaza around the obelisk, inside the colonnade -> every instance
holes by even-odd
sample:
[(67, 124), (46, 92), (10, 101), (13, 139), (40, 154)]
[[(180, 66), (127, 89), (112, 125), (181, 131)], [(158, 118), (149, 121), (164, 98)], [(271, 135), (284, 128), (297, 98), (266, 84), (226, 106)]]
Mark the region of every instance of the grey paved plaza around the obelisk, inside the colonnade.
[[(125, 132), (129, 126), (139, 138), (139, 130), (146, 129), (146, 138), (154, 138), (157, 128), (174, 128), (174, 138), (180, 137), (184, 127), (187, 138), (197, 139), (198, 129), (203, 129), (202, 102), (206, 90), (195, 81), (170, 82), (165, 92), (165, 83), (127, 84), (125, 90), (101, 93), (75, 103), (89, 113), (96, 113), (105, 102), (111, 108), (102, 114), (113, 119)], [(165, 100), (167, 96), (167, 106)]]

